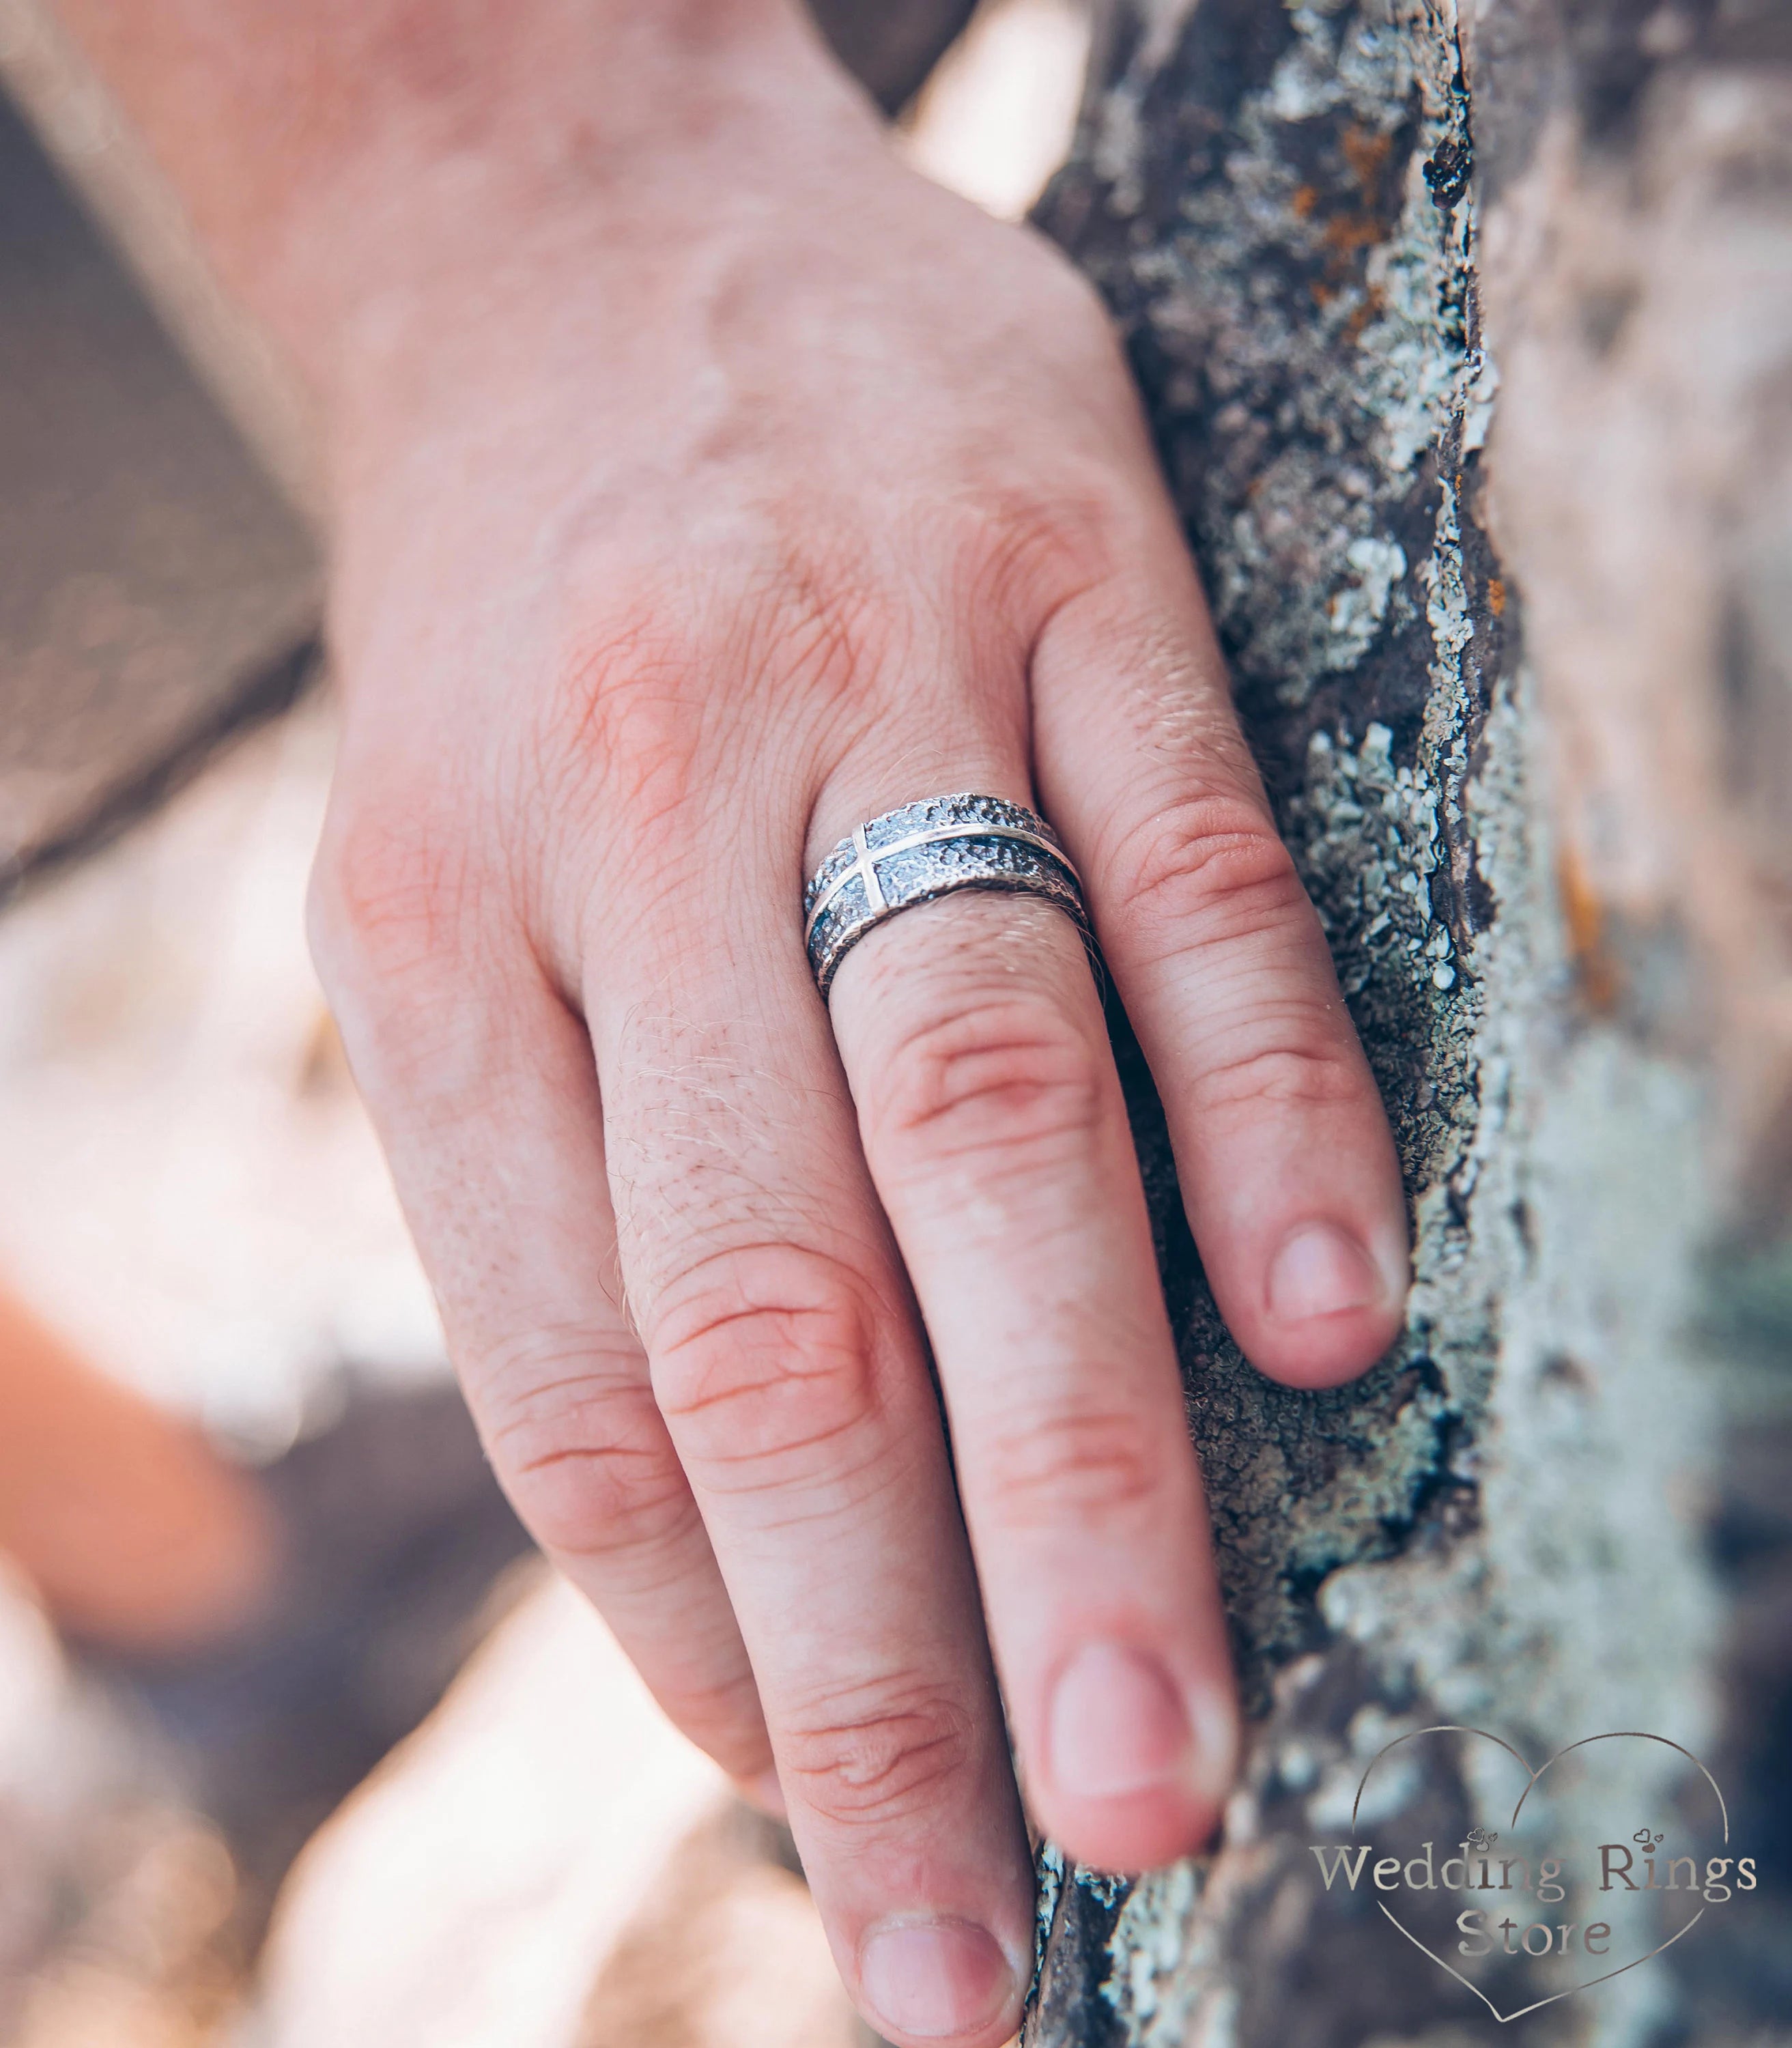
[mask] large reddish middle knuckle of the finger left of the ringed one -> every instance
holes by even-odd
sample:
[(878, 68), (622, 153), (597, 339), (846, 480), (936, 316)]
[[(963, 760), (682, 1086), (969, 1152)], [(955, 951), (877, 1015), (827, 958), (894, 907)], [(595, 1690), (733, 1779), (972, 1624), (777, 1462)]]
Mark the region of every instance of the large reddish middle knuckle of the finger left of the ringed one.
[[(850, 1470), (883, 1407), (864, 1282), (795, 1245), (707, 1260), (655, 1317), (653, 1393), (680, 1454), (717, 1491)], [(868, 1446), (866, 1446), (868, 1448)]]

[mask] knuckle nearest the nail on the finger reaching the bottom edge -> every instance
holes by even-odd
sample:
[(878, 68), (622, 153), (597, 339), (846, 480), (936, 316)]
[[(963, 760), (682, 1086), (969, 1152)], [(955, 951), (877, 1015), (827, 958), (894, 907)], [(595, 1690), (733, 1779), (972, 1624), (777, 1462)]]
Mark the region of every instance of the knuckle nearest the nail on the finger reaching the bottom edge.
[(975, 1761), (965, 1700), (924, 1683), (879, 1681), (807, 1702), (778, 1729), (778, 1774), (805, 1806), (840, 1825), (899, 1821), (940, 1804)]

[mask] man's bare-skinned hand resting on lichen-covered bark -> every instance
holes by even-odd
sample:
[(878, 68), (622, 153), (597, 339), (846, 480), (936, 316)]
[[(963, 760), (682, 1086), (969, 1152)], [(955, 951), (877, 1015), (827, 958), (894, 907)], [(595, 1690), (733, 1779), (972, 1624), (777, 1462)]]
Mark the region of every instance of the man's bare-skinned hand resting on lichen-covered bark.
[[(492, 1458), (782, 1798), (870, 2019), (995, 2044), (1032, 1966), (1010, 1733), (1073, 1855), (1196, 1849), (1225, 1626), (1073, 926), (948, 897), (829, 1014), (807, 874), (920, 797), (1042, 809), (1249, 1358), (1341, 1380), (1407, 1282), (1114, 338), (778, 0), (317, 0), (305, 35), (182, 0), (209, 53), (70, 12), (330, 412), (315, 952)], [(236, 98), (195, 139), (207, 63)]]

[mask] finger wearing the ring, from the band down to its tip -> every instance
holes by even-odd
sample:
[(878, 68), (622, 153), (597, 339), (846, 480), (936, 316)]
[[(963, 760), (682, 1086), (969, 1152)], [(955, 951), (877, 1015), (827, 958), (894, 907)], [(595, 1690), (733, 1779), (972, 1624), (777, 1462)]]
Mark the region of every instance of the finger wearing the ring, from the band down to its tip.
[[(1024, 791), (1018, 762), (1006, 784)], [(874, 926), (829, 993), (940, 1368), (1030, 1804), (1083, 1862), (1169, 1862), (1219, 1817), (1235, 1706), (1081, 940), (1049, 903), (961, 891)]]

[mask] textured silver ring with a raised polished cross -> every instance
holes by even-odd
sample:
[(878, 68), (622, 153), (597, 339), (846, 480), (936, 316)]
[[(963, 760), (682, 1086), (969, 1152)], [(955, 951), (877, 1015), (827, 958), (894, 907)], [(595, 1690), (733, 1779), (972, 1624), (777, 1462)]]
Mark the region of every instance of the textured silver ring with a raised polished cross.
[(1083, 885), (1057, 834), (1001, 797), (928, 797), (872, 817), (844, 838), (803, 891), (803, 942), (821, 999), (866, 932), (958, 889), (1036, 895), (1081, 932), (1100, 979)]

